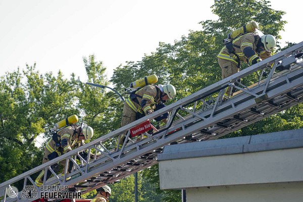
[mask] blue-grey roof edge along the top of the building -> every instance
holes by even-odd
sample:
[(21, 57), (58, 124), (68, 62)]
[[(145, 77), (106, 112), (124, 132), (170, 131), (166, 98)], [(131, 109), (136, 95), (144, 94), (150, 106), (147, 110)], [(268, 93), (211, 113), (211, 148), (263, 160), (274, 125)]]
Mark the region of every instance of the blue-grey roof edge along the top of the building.
[(303, 147), (303, 128), (220, 140), (167, 145), (158, 161)]

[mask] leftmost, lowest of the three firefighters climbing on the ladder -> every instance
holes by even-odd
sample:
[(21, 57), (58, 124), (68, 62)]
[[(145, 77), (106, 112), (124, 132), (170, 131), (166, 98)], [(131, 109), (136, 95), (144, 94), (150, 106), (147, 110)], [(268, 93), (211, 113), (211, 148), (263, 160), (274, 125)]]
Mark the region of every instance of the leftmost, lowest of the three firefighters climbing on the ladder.
[[(70, 125), (66, 128), (63, 128), (62, 130), (54, 134), (52, 138), (48, 140), (48, 142), (45, 144), (42, 164), (51, 161), (63, 154), (68, 153), (72, 149), (81, 145), (81, 142), (83, 143), (84, 140), (90, 139), (92, 136), (93, 136), (93, 129), (84, 123), (82, 123), (81, 126)], [(63, 176), (65, 172), (66, 161), (63, 160), (60, 162), (60, 164), (63, 165), (63, 173), (62, 173)], [(59, 164), (54, 164), (51, 166), (51, 168), (56, 173), (61, 170), (59, 169), (59, 167), (60, 167)], [(72, 167), (73, 167), (73, 163), (69, 162), (67, 174), (71, 172)], [(48, 170), (46, 174), (46, 180), (49, 177), (51, 177), (51, 175), (52, 172)], [(41, 186), (43, 184), (43, 179), (44, 179), (44, 170), (42, 170), (41, 173), (36, 178), (35, 184), (38, 187)]]

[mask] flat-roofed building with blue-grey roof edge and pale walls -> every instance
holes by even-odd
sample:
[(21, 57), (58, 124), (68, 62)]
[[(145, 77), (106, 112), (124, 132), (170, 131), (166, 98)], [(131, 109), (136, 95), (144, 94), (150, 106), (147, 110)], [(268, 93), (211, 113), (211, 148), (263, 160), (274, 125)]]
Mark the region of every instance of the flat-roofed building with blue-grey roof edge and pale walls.
[(187, 202), (303, 201), (303, 129), (165, 146), (160, 188)]

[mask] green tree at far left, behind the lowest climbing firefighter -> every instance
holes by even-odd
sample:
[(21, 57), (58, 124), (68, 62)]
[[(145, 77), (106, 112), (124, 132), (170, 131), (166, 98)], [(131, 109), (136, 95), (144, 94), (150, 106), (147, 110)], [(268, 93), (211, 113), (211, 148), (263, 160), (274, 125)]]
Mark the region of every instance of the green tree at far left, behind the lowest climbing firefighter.
[(75, 89), (74, 75), (71, 80), (61, 72), (39, 75), (35, 64), (0, 78), (0, 165), (6, 165), (0, 167), (1, 182), (41, 164), (43, 150), (35, 138), (58, 120), (78, 114), (72, 105)]

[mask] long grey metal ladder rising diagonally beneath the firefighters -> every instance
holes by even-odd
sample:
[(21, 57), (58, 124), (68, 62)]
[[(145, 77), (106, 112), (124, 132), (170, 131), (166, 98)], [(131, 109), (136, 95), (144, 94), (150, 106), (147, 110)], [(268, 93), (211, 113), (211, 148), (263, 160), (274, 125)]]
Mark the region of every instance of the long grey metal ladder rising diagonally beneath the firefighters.
[[(34, 185), (35, 177), (42, 170), (45, 173), (49, 170), (54, 175), (46, 182), (44, 179), (44, 185), (68, 185), (70, 190), (86, 193), (157, 164), (157, 154), (162, 152), (164, 145), (216, 139), (297, 105), (303, 100), (302, 55), (303, 41), (0, 184), (0, 196), (4, 195), (5, 201), (21, 201), (20, 193), (11, 198), (6, 197), (7, 191), (17, 184)], [(267, 72), (267, 76), (264, 76), (264, 72)], [(252, 75), (259, 75), (259, 81), (254, 85), (245, 86), (237, 82), (240, 78), (245, 82)], [(224, 96), (228, 86), (237, 89), (232, 97)], [(153, 135), (146, 133), (144, 138), (130, 138), (131, 128), (166, 112), (169, 112), (168, 122), (159, 131)], [(116, 149), (119, 135), (126, 138), (123, 146)], [(87, 161), (79, 155), (84, 150), (88, 151)], [(71, 174), (61, 177), (51, 166), (63, 160), (68, 160), (66, 165), (72, 161), (74, 168)], [(39, 191), (38, 187), (35, 188)]]

